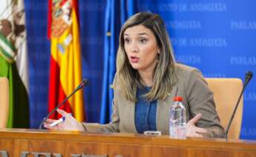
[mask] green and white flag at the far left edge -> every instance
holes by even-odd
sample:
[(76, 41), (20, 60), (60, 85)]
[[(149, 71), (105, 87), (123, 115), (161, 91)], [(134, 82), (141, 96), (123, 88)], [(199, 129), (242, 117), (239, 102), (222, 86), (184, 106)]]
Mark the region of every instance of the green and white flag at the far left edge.
[(9, 80), (7, 127), (29, 127), (27, 42), (24, 1), (1, 1), (0, 77)]

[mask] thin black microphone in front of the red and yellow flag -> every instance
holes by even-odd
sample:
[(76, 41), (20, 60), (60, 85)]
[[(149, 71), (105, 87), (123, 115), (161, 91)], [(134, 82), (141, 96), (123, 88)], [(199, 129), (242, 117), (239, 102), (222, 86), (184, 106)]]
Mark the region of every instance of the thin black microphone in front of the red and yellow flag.
[(57, 107), (55, 107), (52, 111), (50, 111), (50, 113), (47, 114), (47, 116), (42, 120), (41, 124), (39, 125), (39, 129), (42, 129), (42, 125), (45, 123), (46, 119), (50, 117), (50, 115), (52, 115), (59, 107), (65, 104), (65, 102), (68, 101), (68, 98), (73, 96), (73, 94), (76, 93), (78, 90), (81, 90), (82, 87), (84, 87), (86, 84), (88, 84), (88, 79), (82, 79), (81, 83), (76, 87), (76, 89), (73, 90), (73, 92), (70, 93), (70, 95), (65, 98)]

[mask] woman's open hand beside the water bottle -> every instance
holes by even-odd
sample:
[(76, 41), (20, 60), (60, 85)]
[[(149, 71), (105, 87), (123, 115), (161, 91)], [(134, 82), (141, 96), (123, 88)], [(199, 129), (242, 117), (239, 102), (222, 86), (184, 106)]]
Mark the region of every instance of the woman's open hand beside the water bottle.
[(207, 130), (197, 127), (195, 123), (202, 117), (202, 114), (199, 113), (194, 118), (191, 118), (186, 124), (186, 136), (189, 137), (203, 137), (200, 133), (206, 133)]

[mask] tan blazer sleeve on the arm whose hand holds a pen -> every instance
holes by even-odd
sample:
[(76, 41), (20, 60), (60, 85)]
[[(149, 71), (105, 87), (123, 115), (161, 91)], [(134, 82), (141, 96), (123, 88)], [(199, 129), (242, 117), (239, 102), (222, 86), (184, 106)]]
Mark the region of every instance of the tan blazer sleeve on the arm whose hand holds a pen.
[(94, 133), (119, 133), (119, 112), (117, 102), (112, 101), (112, 121), (109, 124), (82, 123), (85, 131)]

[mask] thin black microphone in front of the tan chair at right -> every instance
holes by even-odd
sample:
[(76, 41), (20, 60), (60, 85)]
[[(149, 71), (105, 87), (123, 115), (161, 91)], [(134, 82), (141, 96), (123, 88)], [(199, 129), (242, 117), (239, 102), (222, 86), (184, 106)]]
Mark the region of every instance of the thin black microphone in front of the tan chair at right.
[(241, 93), (240, 93), (240, 96), (239, 96), (239, 98), (238, 98), (238, 100), (237, 100), (237, 104), (236, 104), (235, 107), (234, 107), (234, 111), (233, 111), (233, 113), (232, 113), (232, 116), (231, 116), (231, 118), (229, 119), (229, 124), (228, 124), (228, 127), (226, 128), (226, 131), (225, 131), (225, 138), (228, 138), (229, 129), (230, 129), (230, 127), (231, 127), (231, 124), (232, 124), (232, 121), (233, 121), (233, 118), (234, 118), (234, 114), (235, 114), (235, 112), (237, 111), (238, 104), (240, 103), (240, 100), (241, 100), (241, 98), (242, 98), (243, 90), (246, 89), (246, 86), (247, 86), (247, 84), (249, 84), (249, 81), (252, 79), (252, 76), (253, 76), (252, 71), (246, 72), (246, 79), (245, 79), (244, 84), (243, 84), (243, 89), (242, 89), (242, 91), (241, 91)]

